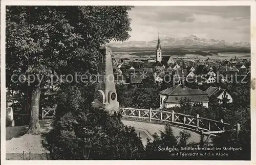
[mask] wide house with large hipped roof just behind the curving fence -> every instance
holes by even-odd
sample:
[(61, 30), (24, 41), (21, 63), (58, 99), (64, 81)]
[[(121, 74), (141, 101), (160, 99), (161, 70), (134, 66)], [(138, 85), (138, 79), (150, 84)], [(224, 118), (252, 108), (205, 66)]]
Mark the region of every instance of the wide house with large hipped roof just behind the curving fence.
[(173, 87), (164, 89), (160, 93), (160, 108), (170, 108), (179, 106), (179, 101), (182, 98), (187, 98), (192, 104), (202, 103), (208, 107), (208, 93), (200, 89), (190, 89), (183, 84), (178, 84)]

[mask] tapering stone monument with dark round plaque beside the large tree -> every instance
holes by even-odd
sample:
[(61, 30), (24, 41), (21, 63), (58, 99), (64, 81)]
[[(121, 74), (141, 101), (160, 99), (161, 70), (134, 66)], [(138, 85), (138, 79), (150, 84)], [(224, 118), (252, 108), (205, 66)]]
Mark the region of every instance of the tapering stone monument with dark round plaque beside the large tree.
[(117, 101), (111, 55), (110, 48), (103, 46), (99, 49), (98, 75), (92, 107), (114, 113), (119, 110), (119, 102)]

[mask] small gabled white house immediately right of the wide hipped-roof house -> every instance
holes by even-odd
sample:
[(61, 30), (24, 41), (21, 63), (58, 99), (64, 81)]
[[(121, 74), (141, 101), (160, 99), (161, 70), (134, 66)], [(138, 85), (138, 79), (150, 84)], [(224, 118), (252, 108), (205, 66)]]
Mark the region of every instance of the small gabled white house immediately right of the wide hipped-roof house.
[(226, 99), (227, 103), (233, 102), (232, 97), (229, 95), (226, 89), (222, 89), (221, 87), (210, 86), (205, 90), (205, 92), (208, 93), (209, 98), (215, 97), (217, 99), (220, 99), (222, 103), (224, 101), (224, 98)]

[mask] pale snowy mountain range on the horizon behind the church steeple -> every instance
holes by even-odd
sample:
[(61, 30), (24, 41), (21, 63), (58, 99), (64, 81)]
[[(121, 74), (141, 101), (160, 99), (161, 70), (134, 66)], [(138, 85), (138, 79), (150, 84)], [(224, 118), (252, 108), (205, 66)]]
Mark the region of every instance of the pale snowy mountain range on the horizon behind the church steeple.
[[(107, 46), (117, 47), (117, 48), (131, 48), (131, 47), (139, 47), (139, 48), (155, 48), (157, 45), (157, 40), (153, 41), (126, 41), (126, 42), (112, 42)], [(195, 35), (190, 35), (188, 37), (182, 38), (172, 38), (166, 37), (161, 40), (162, 48), (170, 48), (170, 47), (225, 47), (225, 46), (234, 46), (234, 47), (250, 47), (249, 42), (233, 42), (229, 43), (225, 40), (219, 39), (205, 39), (198, 38)]]

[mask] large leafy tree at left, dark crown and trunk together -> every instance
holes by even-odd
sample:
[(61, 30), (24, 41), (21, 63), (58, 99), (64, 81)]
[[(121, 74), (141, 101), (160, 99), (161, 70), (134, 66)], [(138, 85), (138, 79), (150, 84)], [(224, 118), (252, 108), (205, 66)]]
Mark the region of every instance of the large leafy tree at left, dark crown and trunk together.
[[(27, 95), (29, 132), (39, 129), (39, 99), (52, 75), (93, 73), (98, 48), (129, 38), (126, 6), (8, 6), (6, 8), (6, 84)], [(22, 82), (12, 75), (24, 74)], [(34, 82), (29, 75), (43, 78)], [(18, 77), (13, 77), (15, 81)], [(31, 76), (31, 79), (33, 76)]]

